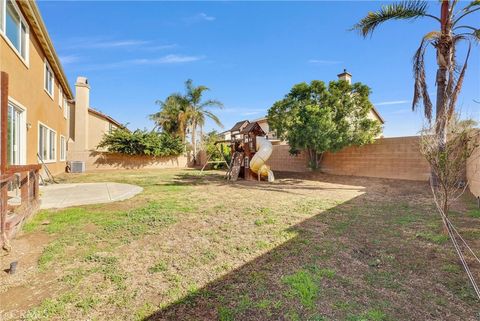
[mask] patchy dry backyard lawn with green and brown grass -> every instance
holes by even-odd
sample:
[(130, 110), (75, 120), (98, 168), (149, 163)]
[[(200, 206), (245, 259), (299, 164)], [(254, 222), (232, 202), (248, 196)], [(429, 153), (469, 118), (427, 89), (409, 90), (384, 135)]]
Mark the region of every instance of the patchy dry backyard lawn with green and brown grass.
[[(0, 276), (0, 320), (477, 320), (426, 184), (278, 176), (64, 176), (144, 192), (37, 214), (1, 258), (20, 263)], [(473, 206), (451, 215), (479, 248)]]

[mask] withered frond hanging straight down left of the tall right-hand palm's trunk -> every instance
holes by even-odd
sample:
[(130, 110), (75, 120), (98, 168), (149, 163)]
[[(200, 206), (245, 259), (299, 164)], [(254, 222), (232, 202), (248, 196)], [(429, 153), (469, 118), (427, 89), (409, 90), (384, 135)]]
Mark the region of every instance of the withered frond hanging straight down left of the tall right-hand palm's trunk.
[(420, 47), (413, 57), (413, 76), (415, 79), (412, 110), (416, 110), (421, 101), (423, 101), (424, 114), (428, 121), (432, 120), (432, 101), (428, 94), (427, 80), (425, 76), (425, 50), (431, 43), (431, 38), (424, 37)]

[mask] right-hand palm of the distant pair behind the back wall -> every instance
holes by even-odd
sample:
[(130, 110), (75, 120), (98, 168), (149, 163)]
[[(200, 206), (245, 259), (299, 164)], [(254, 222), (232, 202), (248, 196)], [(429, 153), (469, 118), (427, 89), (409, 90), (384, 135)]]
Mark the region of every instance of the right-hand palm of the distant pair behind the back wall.
[(202, 96), (205, 91), (210, 90), (206, 86), (194, 86), (193, 81), (188, 79), (185, 82), (186, 94), (183, 96), (185, 103), (188, 105), (189, 110), (189, 125), (190, 133), (192, 139), (192, 148), (193, 148), (193, 161), (196, 162), (197, 156), (197, 128), (200, 127), (200, 139), (203, 139), (203, 126), (205, 125), (205, 119), (210, 118), (220, 127), (223, 127), (220, 119), (213, 114), (209, 107), (219, 107), (223, 108), (223, 104), (218, 100), (208, 99), (202, 101)]

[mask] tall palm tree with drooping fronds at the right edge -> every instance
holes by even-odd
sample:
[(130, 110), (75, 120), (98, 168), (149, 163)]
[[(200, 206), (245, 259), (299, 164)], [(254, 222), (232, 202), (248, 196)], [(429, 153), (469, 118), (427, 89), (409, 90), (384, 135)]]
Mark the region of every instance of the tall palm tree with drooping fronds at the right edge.
[[(429, 18), (438, 23), (439, 30), (425, 34), (413, 58), (414, 93), (412, 109), (423, 102), (424, 114), (432, 121), (432, 102), (428, 94), (425, 75), (425, 51), (432, 46), (437, 53), (437, 96), (435, 110), (435, 133), (440, 148), (447, 142), (447, 124), (455, 112), (455, 104), (462, 89), (471, 44), (480, 40), (480, 29), (463, 25), (463, 19), (480, 10), (480, 0), (471, 1), (458, 9), (458, 0), (440, 0), (440, 17), (428, 13), (428, 3), (424, 0), (402, 1), (388, 4), (376, 12), (370, 12), (357, 23), (353, 29), (361, 32), (363, 37), (371, 35), (382, 23), (389, 20), (414, 20)], [(467, 52), (463, 66), (457, 62), (457, 45), (465, 41)]]

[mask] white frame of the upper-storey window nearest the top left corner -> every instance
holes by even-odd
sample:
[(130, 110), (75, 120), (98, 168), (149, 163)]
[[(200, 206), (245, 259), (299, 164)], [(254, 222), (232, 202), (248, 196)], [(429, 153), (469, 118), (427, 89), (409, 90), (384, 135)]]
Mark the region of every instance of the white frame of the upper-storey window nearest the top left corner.
[[(13, 52), (20, 58), (22, 63), (29, 68), (30, 67), (30, 26), (27, 23), (27, 20), (23, 16), (22, 11), (15, 3), (14, 0), (11, 0), (15, 12), (20, 18), (19, 24), (19, 35), (20, 35), (20, 49), (15, 47), (12, 41), (8, 38), (6, 28), (7, 28), (7, 0), (0, 0), (0, 36), (5, 39), (5, 42), (12, 48)], [(22, 39), (22, 25), (25, 27), (25, 39)], [(24, 40), (25, 48), (22, 48), (22, 41)], [(25, 57), (22, 56), (22, 49), (25, 49)]]

